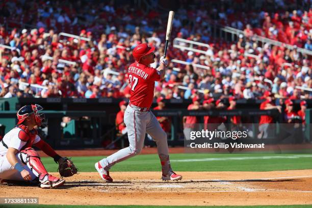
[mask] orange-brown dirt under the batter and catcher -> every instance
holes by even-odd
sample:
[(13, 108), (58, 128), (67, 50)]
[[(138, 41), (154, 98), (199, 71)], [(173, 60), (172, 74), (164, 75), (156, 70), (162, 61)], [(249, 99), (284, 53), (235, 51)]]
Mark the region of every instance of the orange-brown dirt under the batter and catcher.
[(40, 204), (312, 204), (312, 170), (180, 173), (183, 180), (166, 182), (155, 179), (159, 172), (112, 172), (114, 183), (105, 183), (84, 172), (59, 189), (2, 184), (0, 197), (39, 196)]

